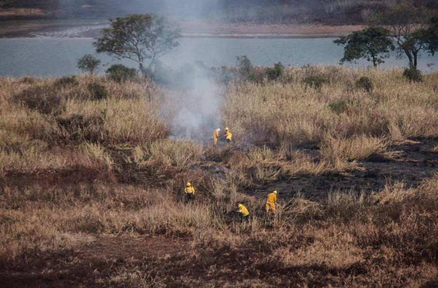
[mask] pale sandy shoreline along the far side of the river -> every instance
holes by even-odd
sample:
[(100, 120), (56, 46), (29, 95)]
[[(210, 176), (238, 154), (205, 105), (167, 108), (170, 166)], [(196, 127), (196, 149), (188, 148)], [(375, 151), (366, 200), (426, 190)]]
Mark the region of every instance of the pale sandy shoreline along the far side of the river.
[[(106, 19), (94, 20), (52, 20), (52, 21), (1, 21), (0, 37), (34, 37), (35, 35), (57, 35), (57, 37), (99, 36)], [(327, 38), (347, 35), (362, 26), (343, 25), (326, 26), (318, 24), (210, 24), (200, 22), (183, 22), (182, 37), (188, 38)], [(69, 29), (80, 28), (68, 33)], [(67, 33), (63, 33), (67, 31)], [(62, 36), (60, 36), (62, 35)]]

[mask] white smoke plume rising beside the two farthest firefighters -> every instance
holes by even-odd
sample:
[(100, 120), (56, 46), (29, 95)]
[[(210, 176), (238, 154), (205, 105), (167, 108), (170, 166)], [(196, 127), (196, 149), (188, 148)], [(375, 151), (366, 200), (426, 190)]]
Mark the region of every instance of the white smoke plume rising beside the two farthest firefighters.
[[(201, 15), (204, 9), (214, 7), (216, 2), (217, 0), (165, 0), (163, 4), (168, 14), (180, 19), (190, 19)], [(178, 49), (176, 55), (174, 52), (173, 54), (173, 58), (179, 57)], [(170, 106), (173, 106), (173, 111), (162, 113), (171, 119), (173, 137), (210, 141), (213, 131), (220, 128), (222, 122), (220, 98), (223, 91), (208, 75), (209, 69), (195, 65), (199, 60), (195, 52), (190, 53), (184, 49), (184, 55), (181, 54), (180, 57), (184, 57), (184, 67), (191, 67), (190, 73), (187, 71), (187, 75), (183, 77), (184, 88), (180, 85), (170, 87), (167, 97), (172, 102)], [(185, 73), (184, 68), (174, 67), (173, 63), (163, 64), (172, 70), (182, 69), (182, 73)]]

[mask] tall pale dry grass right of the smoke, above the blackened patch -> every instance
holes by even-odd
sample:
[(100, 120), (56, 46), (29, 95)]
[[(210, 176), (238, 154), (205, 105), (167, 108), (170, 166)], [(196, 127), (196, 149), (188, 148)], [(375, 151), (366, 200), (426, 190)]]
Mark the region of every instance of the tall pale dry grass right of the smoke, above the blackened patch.
[[(303, 83), (307, 76), (327, 81), (321, 89)], [(374, 83), (369, 93), (354, 87), (360, 76)], [(368, 135), (400, 139), (434, 137), (438, 118), (435, 82), (409, 83), (400, 70), (352, 70), (304, 67), (286, 71), (283, 82), (230, 86), (224, 122), (238, 141), (265, 142), (288, 149), (291, 144), (318, 143), (327, 133), (339, 137)], [(332, 103), (343, 101), (343, 111)], [(231, 127), (230, 127), (231, 128)]]

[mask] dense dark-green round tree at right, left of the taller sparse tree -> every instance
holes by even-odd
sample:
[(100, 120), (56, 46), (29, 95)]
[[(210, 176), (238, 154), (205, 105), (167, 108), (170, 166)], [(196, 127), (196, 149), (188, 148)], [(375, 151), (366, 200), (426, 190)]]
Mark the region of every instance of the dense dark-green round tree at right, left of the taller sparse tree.
[(389, 31), (374, 26), (355, 31), (334, 42), (344, 46), (344, 57), (339, 61), (340, 64), (365, 58), (377, 67), (378, 64), (384, 63), (383, 59), (388, 58), (389, 52), (395, 49), (389, 38)]

